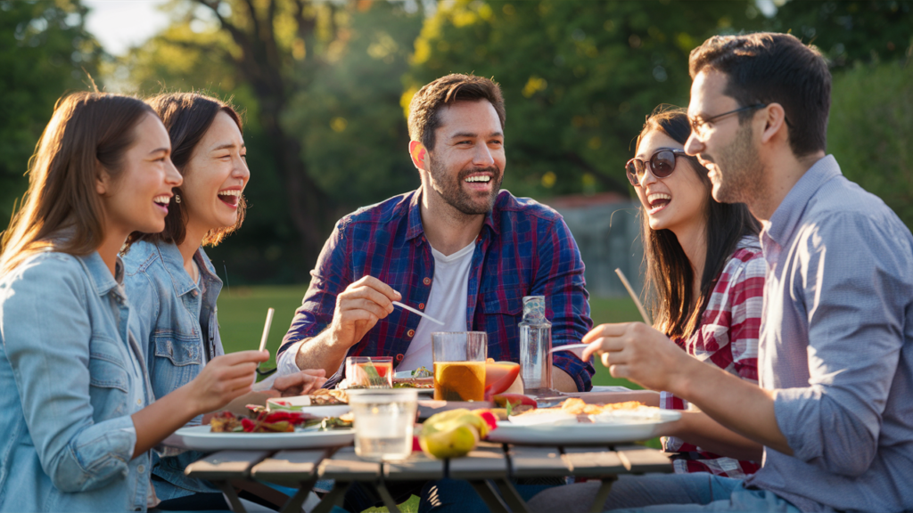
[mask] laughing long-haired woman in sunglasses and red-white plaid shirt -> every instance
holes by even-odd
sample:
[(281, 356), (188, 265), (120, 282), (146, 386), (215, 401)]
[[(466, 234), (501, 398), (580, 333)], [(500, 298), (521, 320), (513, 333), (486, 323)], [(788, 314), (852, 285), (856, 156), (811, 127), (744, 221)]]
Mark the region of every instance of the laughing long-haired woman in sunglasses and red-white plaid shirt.
[[(657, 107), (637, 137), (635, 158), (625, 166), (642, 205), (648, 308), (656, 329), (684, 351), (757, 382), (765, 272), (760, 226), (744, 204), (720, 204), (711, 197), (707, 168), (684, 151), (690, 133), (685, 110)], [(598, 337), (603, 326), (587, 338)], [(638, 391), (622, 400), (628, 399), (687, 409), (685, 401), (668, 393)], [(706, 414), (683, 411), (669, 434), (663, 445), (666, 452), (675, 453), (677, 473), (743, 478), (760, 468), (761, 445)], [(623, 491), (626, 484), (622, 476), (613, 491)], [(551, 488), (534, 497), (530, 508), (586, 511), (598, 488), (599, 483)], [(604, 509), (624, 508), (613, 497)]]

